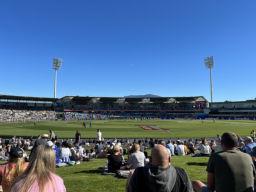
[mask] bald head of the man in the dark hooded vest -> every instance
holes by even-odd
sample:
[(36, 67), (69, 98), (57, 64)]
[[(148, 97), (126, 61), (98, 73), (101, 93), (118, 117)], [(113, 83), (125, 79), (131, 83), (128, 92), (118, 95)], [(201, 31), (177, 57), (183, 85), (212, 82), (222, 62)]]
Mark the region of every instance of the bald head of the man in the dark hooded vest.
[(169, 152), (163, 145), (156, 145), (151, 151), (153, 166), (168, 167)]

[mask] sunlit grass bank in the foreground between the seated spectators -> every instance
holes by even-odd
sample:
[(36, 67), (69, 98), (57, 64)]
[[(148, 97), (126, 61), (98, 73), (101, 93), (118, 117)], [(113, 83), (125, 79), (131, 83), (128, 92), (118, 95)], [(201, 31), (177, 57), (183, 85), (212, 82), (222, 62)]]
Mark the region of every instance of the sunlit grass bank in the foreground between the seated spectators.
[[(151, 150), (147, 150), (150, 155)], [(124, 156), (127, 158), (127, 156)], [(209, 157), (173, 156), (172, 166), (186, 170), (190, 180), (207, 180), (206, 165)], [(6, 161), (0, 161), (0, 164)], [(99, 167), (106, 164), (106, 159), (92, 159), (79, 165), (56, 168), (56, 174), (64, 180), (68, 192), (100, 191), (124, 192), (126, 179), (113, 175), (101, 175)]]

